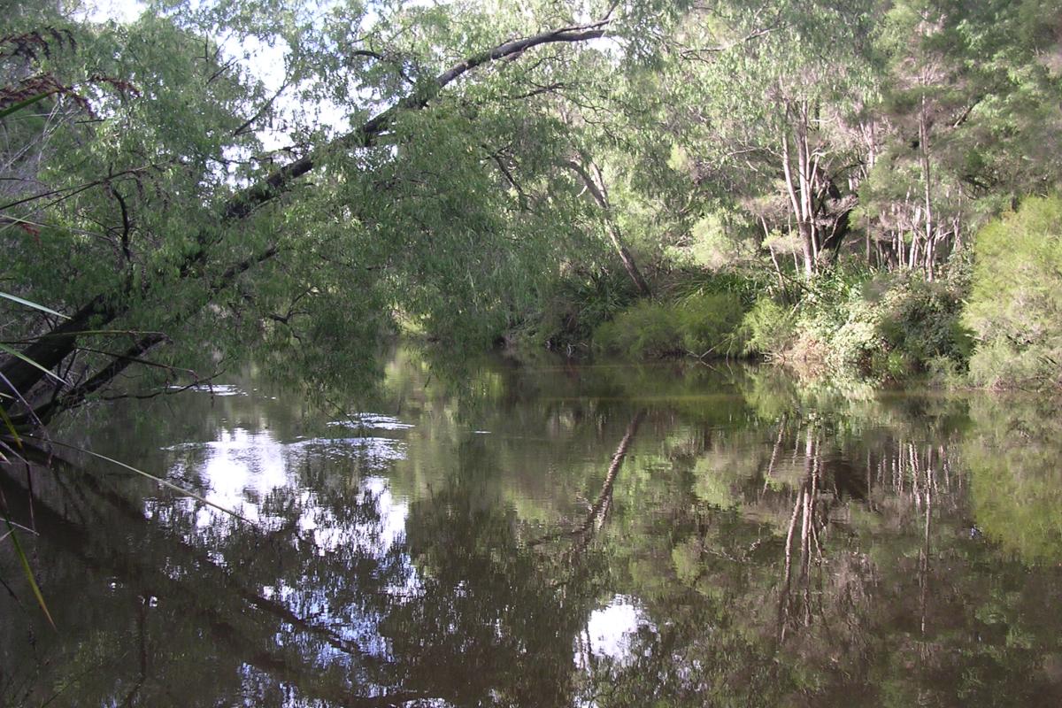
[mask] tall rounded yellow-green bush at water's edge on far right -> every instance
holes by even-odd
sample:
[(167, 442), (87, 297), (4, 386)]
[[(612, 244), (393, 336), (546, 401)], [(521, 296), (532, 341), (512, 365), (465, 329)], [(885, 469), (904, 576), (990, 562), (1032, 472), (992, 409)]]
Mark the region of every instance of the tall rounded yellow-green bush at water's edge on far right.
[(984, 386), (1062, 383), (1062, 197), (1030, 197), (977, 234), (964, 323)]

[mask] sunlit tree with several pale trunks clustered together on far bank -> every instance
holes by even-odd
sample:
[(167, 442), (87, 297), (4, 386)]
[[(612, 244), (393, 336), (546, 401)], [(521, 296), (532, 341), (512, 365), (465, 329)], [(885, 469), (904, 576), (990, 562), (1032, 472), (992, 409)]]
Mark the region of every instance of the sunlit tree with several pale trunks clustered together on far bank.
[(810, 276), (849, 230), (875, 90), (872, 2), (718, 3), (671, 44), (664, 92), (681, 161), (765, 232), (791, 230)]

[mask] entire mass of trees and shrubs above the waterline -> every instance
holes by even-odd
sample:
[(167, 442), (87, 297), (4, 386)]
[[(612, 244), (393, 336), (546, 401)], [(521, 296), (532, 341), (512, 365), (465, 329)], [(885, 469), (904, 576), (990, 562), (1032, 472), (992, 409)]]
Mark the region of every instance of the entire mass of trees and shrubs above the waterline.
[(3, 18), (13, 429), (249, 356), (325, 390), (404, 324), (1058, 383), (1057, 4), (144, 10)]

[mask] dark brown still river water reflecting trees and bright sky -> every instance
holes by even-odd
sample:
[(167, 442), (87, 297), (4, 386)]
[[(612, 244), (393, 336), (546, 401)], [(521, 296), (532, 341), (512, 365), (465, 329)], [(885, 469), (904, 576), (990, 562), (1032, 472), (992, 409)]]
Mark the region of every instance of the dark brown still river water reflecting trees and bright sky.
[(5, 541), (0, 705), (1062, 701), (1048, 403), (474, 369), (400, 353), (346, 416), (247, 375), (63, 431), (247, 521), (99, 460), (0, 470), (58, 626)]

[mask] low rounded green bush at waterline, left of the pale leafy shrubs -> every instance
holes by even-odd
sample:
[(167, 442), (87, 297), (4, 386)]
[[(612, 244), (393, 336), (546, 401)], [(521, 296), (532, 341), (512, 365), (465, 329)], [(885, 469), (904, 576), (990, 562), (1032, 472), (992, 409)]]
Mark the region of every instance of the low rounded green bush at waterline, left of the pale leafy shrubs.
[(700, 293), (675, 301), (643, 300), (602, 324), (595, 345), (630, 357), (726, 356), (741, 351), (737, 295)]

